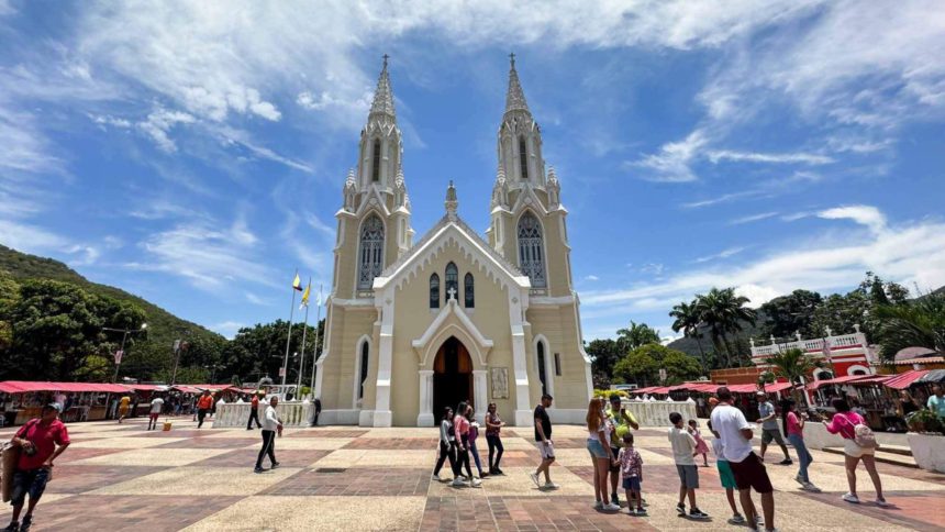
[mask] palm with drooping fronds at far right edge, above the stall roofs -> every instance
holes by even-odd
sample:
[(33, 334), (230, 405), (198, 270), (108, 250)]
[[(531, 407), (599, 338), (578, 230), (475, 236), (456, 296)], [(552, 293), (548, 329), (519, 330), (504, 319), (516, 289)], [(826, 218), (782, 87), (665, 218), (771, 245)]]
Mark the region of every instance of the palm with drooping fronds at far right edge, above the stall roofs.
[(908, 304), (879, 306), (880, 341), (886, 358), (904, 347), (945, 353), (945, 293), (929, 293)]

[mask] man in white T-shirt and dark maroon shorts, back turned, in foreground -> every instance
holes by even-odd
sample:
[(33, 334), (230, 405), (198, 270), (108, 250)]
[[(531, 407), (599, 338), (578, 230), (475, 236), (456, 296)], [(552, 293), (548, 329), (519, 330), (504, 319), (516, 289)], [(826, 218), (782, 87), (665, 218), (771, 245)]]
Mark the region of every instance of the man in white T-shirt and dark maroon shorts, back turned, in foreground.
[(722, 441), (722, 455), (732, 467), (742, 509), (748, 525), (757, 522), (758, 511), (752, 502), (752, 488), (761, 494), (761, 509), (765, 512), (765, 528), (775, 529), (775, 496), (771, 480), (765, 464), (752, 448), (754, 432), (745, 419), (745, 414), (732, 406), (732, 392), (726, 387), (715, 392), (719, 404), (712, 410), (712, 429), (719, 433)]

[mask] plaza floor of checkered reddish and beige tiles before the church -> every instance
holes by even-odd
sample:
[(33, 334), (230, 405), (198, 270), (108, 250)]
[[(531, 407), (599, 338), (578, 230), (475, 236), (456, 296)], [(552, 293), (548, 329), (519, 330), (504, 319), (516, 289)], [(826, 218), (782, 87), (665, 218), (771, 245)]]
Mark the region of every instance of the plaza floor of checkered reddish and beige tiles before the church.
[[(262, 475), (252, 470), (258, 432), (207, 424), (197, 430), (189, 418), (174, 420), (170, 432), (144, 429), (143, 420), (71, 425), (75, 442), (57, 462), (33, 530), (733, 529), (714, 465), (699, 469), (698, 491), (699, 506), (713, 519), (676, 516), (678, 480), (662, 430), (636, 433), (649, 517), (632, 518), (625, 510), (605, 514), (591, 508), (593, 468), (579, 426), (555, 428), (555, 491), (538, 490), (529, 479), (538, 455), (531, 431), (522, 429), (503, 436), (507, 475), (486, 478), (480, 489), (431, 480), (434, 429), (287, 430), (276, 441), (281, 467)], [(0, 430), (2, 440), (10, 434)], [(840, 498), (846, 491), (843, 456), (813, 452), (811, 477), (824, 491), (808, 494), (793, 481), (796, 466), (774, 464), (780, 455), (775, 451), (768, 472), (779, 530), (945, 530), (945, 475), (879, 464), (892, 507), (853, 506)], [(480, 453), (486, 461), (485, 442)], [(871, 500), (865, 470), (858, 479), (860, 497)], [(3, 524), (9, 516), (9, 506), (0, 508)]]

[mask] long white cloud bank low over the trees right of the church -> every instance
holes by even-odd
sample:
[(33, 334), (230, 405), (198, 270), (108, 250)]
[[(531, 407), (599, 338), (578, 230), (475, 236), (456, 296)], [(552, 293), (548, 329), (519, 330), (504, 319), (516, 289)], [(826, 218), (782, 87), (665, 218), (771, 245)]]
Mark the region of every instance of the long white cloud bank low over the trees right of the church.
[[(869, 208), (847, 209), (843, 218), (870, 228), (885, 221), (881, 213)], [(841, 213), (836, 214), (840, 218)], [(797, 288), (846, 290), (858, 284), (867, 270), (905, 286), (945, 285), (945, 223), (937, 220), (887, 223), (881, 231), (842, 235), (827, 231), (804, 242), (794, 239), (791, 245), (774, 253), (743, 258), (737, 267), (697, 268), (626, 289), (585, 291), (581, 302), (590, 310), (582, 313), (593, 315), (599, 311), (607, 315), (626, 309), (668, 311), (674, 301), (688, 301), (713, 286), (741, 287), (757, 306)]]

